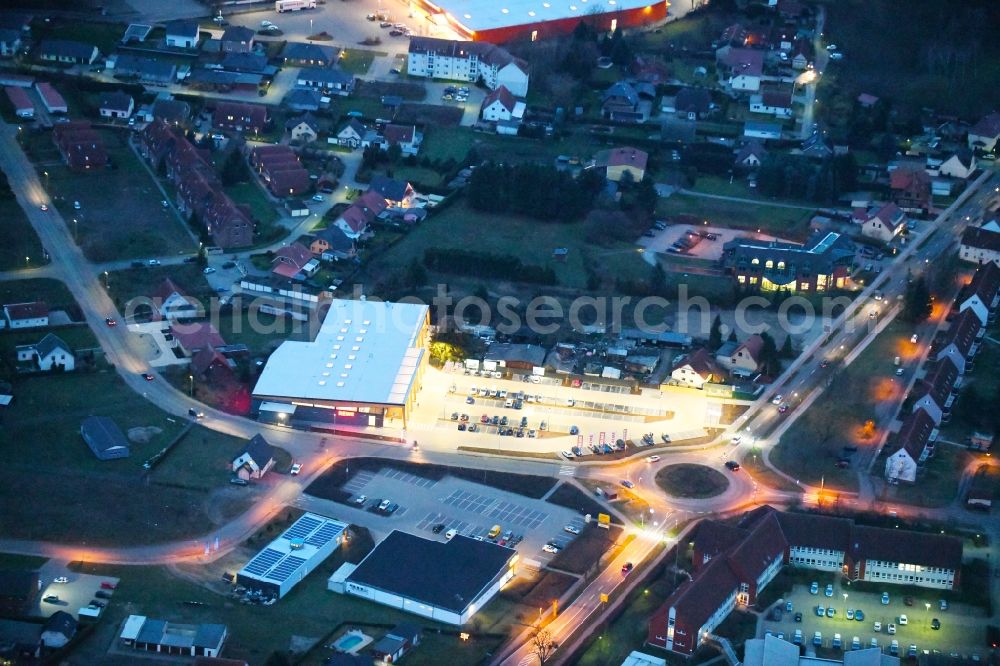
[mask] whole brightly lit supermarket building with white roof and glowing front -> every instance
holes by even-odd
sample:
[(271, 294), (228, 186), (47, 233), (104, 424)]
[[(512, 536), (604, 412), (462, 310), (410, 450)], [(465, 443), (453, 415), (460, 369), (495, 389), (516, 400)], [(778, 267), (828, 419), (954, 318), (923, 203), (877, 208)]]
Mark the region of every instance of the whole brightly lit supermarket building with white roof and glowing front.
[(427, 364), (429, 308), (334, 300), (312, 342), (283, 342), (253, 391), (263, 422), (382, 427), (412, 409)]

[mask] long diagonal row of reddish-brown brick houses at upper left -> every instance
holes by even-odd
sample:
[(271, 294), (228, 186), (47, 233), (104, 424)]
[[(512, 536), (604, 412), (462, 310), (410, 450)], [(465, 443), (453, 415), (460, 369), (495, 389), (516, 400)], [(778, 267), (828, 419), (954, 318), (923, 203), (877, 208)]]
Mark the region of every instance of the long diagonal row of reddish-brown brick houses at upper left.
[(215, 245), (246, 247), (253, 243), (253, 219), (248, 208), (237, 206), (223, 191), (215, 168), (185, 137), (160, 119), (138, 137), (139, 152), (155, 168), (162, 167), (174, 184), (178, 210), (196, 217)]

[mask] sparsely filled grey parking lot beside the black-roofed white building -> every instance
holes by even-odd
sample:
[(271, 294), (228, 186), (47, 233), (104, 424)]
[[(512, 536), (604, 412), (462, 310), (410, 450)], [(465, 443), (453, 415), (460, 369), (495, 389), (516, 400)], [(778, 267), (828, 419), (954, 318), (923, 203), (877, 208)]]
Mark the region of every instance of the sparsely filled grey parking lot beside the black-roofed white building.
[[(584, 526), (582, 516), (572, 509), (450, 476), (431, 479), (392, 468), (361, 470), (342, 489), (351, 494), (352, 503), (365, 498), (358, 505), (365, 509), (365, 520), (351, 520), (378, 532), (399, 529), (443, 541), (455, 530), (487, 539), (499, 525), (496, 541), (509, 531), (519, 552), (543, 562), (553, 555), (542, 550), (546, 543), (565, 547), (574, 535), (564, 528)], [(379, 511), (382, 500), (390, 500), (398, 508), (392, 513)]]

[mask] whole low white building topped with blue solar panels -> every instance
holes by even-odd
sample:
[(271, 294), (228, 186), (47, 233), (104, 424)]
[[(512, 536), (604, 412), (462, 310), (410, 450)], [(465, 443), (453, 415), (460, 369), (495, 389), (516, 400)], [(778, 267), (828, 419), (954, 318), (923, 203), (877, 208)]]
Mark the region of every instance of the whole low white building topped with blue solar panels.
[(347, 523), (303, 514), (236, 574), (236, 582), (265, 596), (281, 598), (337, 550)]

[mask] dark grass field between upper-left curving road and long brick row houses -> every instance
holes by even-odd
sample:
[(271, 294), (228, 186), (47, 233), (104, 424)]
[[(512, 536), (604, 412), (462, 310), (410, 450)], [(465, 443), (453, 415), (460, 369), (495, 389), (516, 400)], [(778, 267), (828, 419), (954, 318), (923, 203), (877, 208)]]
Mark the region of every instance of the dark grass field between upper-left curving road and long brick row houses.
[[(197, 242), (187, 228), (160, 205), (163, 196), (128, 147), (125, 133), (99, 132), (114, 165), (99, 174), (70, 171), (54, 148), (33, 153), (42, 185), (87, 258), (113, 261), (195, 251)], [(45, 136), (51, 141), (51, 134)]]

